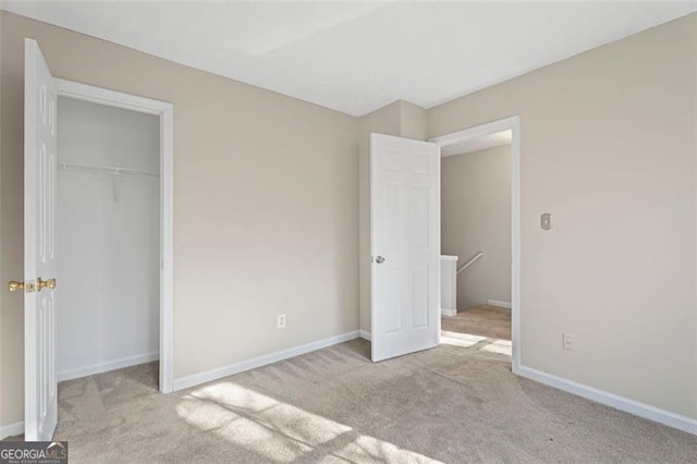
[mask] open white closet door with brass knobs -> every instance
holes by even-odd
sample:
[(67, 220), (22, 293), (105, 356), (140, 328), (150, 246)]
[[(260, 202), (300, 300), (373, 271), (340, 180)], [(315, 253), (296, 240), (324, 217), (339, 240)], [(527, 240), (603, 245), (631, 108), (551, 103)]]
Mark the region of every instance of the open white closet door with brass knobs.
[(53, 437), (56, 381), (57, 90), (38, 44), (24, 44), (24, 420), (27, 441)]

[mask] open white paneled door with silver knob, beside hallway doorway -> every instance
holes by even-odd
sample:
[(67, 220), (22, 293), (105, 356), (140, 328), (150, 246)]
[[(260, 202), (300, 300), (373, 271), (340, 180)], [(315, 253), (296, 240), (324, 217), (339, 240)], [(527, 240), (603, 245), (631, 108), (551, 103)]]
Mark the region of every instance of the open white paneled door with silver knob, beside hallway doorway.
[(440, 147), (370, 137), (372, 361), (438, 344)]

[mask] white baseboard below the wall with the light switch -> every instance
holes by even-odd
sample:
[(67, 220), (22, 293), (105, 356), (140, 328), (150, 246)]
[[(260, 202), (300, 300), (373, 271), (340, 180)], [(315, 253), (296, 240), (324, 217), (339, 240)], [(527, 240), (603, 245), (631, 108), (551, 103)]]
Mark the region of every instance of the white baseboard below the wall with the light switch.
[(573, 393), (577, 396), (604, 404), (606, 406), (614, 407), (615, 410), (624, 411), (625, 413), (634, 414), (635, 416), (644, 417), (645, 419), (653, 420), (688, 434), (697, 435), (697, 419), (692, 417), (671, 413), (670, 411), (629, 400), (628, 398), (609, 393), (573, 380), (566, 380), (530, 367), (519, 366), (516, 369), (516, 374), (530, 380), (554, 387), (559, 390)]

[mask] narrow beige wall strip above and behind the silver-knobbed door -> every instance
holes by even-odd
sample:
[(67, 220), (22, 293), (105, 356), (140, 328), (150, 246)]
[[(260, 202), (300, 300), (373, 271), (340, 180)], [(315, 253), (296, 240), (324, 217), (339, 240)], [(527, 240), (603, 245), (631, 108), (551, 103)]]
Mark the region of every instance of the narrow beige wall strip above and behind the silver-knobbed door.
[(370, 134), (398, 135), (425, 141), (425, 109), (408, 101), (394, 101), (359, 119), (359, 273), (360, 330), (370, 332)]

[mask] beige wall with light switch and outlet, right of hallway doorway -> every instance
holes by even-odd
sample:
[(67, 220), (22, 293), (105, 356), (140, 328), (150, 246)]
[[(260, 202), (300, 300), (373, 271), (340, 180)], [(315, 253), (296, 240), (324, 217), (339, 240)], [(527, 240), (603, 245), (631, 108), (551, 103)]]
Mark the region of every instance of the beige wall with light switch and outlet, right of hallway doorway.
[(693, 418), (696, 57), (692, 14), (429, 111), (521, 117), (522, 364)]

